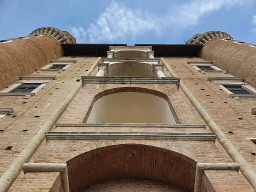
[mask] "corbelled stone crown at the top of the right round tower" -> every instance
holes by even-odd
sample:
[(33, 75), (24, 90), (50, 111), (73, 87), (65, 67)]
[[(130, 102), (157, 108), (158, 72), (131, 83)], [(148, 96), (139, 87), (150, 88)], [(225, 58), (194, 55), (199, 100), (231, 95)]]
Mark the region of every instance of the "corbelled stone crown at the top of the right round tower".
[(231, 35), (222, 31), (208, 31), (203, 34), (194, 35), (186, 44), (200, 44), (205, 45), (208, 41), (211, 41), (215, 38), (225, 38), (225, 39), (233, 39)]

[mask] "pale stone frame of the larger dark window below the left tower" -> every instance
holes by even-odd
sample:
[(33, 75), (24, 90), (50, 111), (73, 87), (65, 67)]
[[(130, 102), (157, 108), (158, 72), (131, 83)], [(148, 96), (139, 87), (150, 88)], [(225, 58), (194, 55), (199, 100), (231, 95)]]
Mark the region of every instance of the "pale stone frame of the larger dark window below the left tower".
[[(20, 80), (20, 81), (17, 81), (16, 83), (12, 84), (8, 88), (2, 90), (0, 92), (0, 95), (2, 95), (2, 96), (16, 96), (16, 95), (34, 96), (35, 93), (37, 93), (39, 90), (41, 90), (45, 85), (49, 84), (50, 81), (51, 80)], [(41, 83), (41, 85), (39, 85), (37, 88), (35, 88), (35, 90), (33, 90), (30, 93), (12, 93), (12, 92), (10, 92), (10, 91), (16, 89), (18, 86), (20, 86), (20, 84), (26, 84), (26, 83)]]

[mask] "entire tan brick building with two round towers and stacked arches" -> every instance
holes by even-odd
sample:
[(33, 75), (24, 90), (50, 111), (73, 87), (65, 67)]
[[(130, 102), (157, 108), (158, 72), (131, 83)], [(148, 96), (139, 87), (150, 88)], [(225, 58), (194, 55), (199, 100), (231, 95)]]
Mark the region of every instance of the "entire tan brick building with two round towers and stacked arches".
[(253, 192), (256, 45), (0, 41), (0, 192)]

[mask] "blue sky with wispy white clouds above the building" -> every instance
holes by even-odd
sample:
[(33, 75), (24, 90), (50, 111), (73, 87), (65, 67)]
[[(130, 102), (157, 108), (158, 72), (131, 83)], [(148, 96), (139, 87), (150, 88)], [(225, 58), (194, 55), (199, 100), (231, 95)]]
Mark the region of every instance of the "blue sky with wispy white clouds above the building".
[(53, 26), (78, 43), (184, 44), (221, 30), (256, 44), (256, 0), (0, 0), (0, 40)]

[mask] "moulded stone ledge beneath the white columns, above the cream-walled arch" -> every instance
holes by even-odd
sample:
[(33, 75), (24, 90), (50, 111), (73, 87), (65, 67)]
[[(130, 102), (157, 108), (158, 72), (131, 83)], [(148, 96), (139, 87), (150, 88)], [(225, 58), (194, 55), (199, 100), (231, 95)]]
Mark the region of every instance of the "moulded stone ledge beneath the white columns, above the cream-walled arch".
[(95, 84), (176, 84), (179, 88), (180, 79), (179, 78), (139, 78), (139, 77), (89, 77), (81, 76), (82, 87), (86, 83)]

